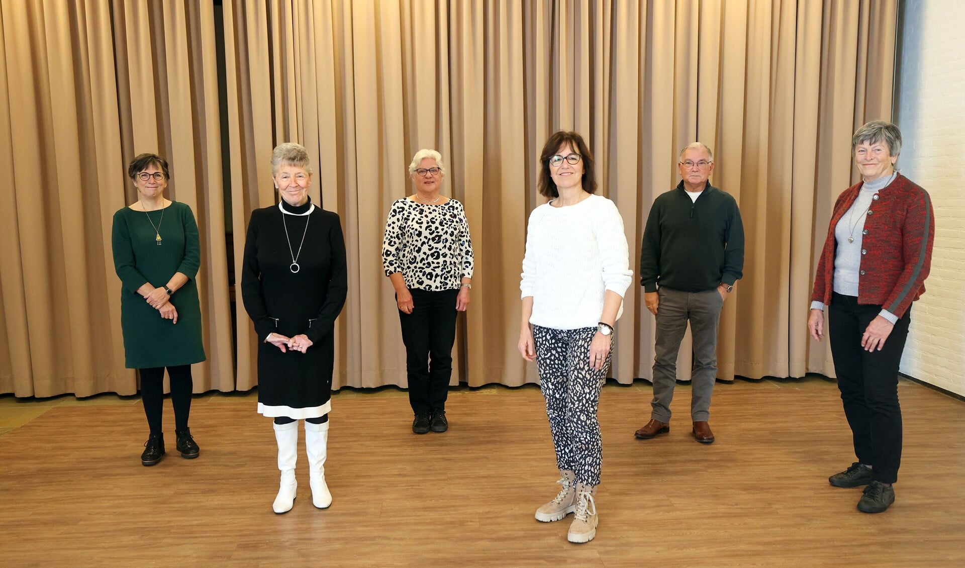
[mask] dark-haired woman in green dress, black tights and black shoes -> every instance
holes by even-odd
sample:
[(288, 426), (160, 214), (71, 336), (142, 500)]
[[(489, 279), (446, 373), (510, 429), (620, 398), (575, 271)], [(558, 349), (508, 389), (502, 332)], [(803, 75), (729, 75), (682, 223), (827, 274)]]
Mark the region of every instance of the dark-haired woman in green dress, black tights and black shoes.
[(114, 268), (121, 279), (121, 329), (127, 368), (141, 375), (141, 398), (151, 434), (141, 463), (164, 455), (161, 411), (164, 368), (171, 379), (177, 447), (184, 458), (199, 448), (187, 425), (191, 364), (205, 361), (195, 276), (201, 264), (198, 224), (191, 207), (164, 199), (167, 161), (143, 153), (127, 166), (138, 200), (114, 214)]

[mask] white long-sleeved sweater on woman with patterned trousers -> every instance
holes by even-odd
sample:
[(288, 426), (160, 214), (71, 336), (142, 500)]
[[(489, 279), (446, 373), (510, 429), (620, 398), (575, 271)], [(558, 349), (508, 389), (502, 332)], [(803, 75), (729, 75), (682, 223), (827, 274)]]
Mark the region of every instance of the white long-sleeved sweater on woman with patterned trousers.
[[(530, 323), (573, 330), (596, 327), (606, 290), (622, 297), (633, 271), (620, 211), (592, 195), (580, 203), (539, 205), (530, 213), (519, 288), (533, 296)], [(623, 312), (620, 311), (617, 318)]]

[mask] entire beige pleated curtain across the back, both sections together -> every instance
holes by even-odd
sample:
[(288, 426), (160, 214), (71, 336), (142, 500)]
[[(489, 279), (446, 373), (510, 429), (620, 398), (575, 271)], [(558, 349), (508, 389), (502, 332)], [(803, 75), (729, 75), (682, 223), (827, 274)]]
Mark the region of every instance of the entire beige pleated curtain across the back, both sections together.
[[(0, 0), (0, 392), (136, 389), (109, 237), (134, 195), (125, 161), (146, 150), (170, 159), (171, 197), (201, 227), (208, 362), (196, 390), (254, 387), (255, 338), (240, 303), (231, 313), (228, 255), (240, 264), (251, 210), (276, 202), (269, 157), (284, 141), (309, 149), (313, 200), (345, 229), (336, 388), (405, 386), (380, 245), (421, 148), (442, 152), (444, 192), (465, 203), (476, 251), (453, 382), (535, 382), (515, 347), (520, 261), (543, 202), (538, 152), (560, 128), (588, 139), (635, 272), (650, 203), (678, 180), (678, 150), (714, 149), (712, 181), (737, 198), (747, 231), (719, 376), (832, 374), (826, 345), (806, 335), (813, 266), (831, 205), (855, 178), (851, 132), (891, 116), (896, 2), (237, 0), (216, 11)], [(650, 377), (640, 293), (628, 290), (618, 325), (621, 383)]]

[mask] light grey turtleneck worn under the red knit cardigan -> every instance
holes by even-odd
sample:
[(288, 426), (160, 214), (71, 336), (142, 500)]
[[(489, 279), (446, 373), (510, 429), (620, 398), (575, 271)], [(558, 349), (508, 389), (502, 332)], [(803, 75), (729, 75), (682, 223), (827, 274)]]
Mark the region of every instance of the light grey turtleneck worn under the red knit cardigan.
[[(835, 227), (835, 240), (838, 246), (835, 252), (834, 290), (844, 296), (858, 295), (858, 278), (861, 271), (861, 250), (865, 235), (865, 219), (871, 203), (878, 199), (878, 192), (888, 187), (895, 180), (897, 173), (883, 176), (873, 181), (866, 181), (858, 192), (858, 199), (851, 203), (851, 207), (844, 212), (838, 226)], [(849, 242), (848, 239), (851, 239)], [(824, 303), (813, 301), (812, 310), (824, 310)], [(898, 318), (891, 311), (882, 310), (879, 315), (895, 323)]]

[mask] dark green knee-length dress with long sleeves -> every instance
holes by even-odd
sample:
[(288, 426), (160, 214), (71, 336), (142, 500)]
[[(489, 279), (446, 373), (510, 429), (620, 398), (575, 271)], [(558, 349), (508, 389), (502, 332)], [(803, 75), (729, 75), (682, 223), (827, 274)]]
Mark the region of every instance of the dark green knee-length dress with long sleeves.
[[(158, 233), (160, 244), (156, 240)], [(191, 207), (178, 202), (149, 212), (124, 207), (114, 214), (111, 241), (114, 269), (123, 284), (121, 329), (127, 368), (205, 361), (201, 307), (195, 283), (201, 264), (201, 243)], [(168, 284), (176, 272), (188, 278), (171, 296), (171, 303), (178, 310), (177, 324), (162, 318), (161, 313), (137, 293), (137, 288), (145, 283), (154, 287)]]

